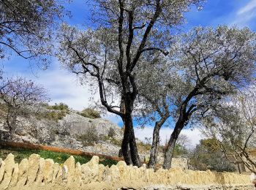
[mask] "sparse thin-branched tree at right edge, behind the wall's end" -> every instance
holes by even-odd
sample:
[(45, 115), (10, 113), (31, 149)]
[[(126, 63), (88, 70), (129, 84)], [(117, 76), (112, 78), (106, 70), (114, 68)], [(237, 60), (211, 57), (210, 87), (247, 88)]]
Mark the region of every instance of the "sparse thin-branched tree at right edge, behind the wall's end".
[(256, 173), (255, 158), (251, 154), (256, 148), (255, 85), (227, 99), (229, 102), (222, 102), (205, 118), (203, 134), (218, 140), (227, 159), (234, 164), (242, 162)]

